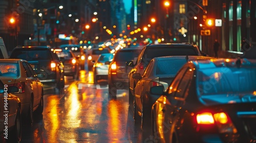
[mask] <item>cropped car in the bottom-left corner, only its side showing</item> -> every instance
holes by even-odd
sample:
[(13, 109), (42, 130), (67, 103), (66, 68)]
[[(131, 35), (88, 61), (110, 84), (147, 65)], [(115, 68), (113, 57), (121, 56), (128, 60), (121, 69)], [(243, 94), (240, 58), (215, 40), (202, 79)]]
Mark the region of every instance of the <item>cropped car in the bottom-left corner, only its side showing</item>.
[[(0, 142), (20, 142), (22, 138), (20, 100), (12, 93), (8, 93), (8, 86), (5, 86), (1, 81), (0, 86), (0, 134), (2, 135)], [(8, 114), (6, 115), (6, 113)], [(6, 121), (8, 121), (7, 128)]]

